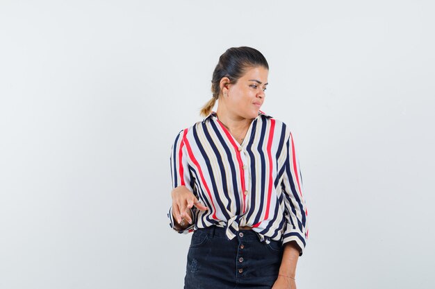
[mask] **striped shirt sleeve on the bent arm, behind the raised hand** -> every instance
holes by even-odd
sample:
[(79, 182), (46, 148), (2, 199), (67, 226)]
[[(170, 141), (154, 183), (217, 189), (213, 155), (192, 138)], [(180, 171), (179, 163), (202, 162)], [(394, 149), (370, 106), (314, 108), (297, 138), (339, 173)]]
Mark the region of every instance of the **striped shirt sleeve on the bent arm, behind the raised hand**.
[[(192, 190), (192, 176), (190, 175), (190, 170), (188, 166), (188, 152), (186, 146), (184, 145), (184, 137), (186, 137), (188, 130), (181, 130), (177, 137), (175, 138), (174, 144), (171, 148), (170, 155), (170, 166), (171, 166), (171, 177), (172, 177), (172, 189), (178, 186), (186, 186), (190, 191)], [(196, 222), (196, 207), (190, 209), (192, 213), (192, 225), (183, 230), (177, 230), (174, 228), (174, 218), (172, 216), (172, 206), (167, 213), (167, 217), (170, 220), (170, 227), (180, 234), (188, 234), (193, 231)]]

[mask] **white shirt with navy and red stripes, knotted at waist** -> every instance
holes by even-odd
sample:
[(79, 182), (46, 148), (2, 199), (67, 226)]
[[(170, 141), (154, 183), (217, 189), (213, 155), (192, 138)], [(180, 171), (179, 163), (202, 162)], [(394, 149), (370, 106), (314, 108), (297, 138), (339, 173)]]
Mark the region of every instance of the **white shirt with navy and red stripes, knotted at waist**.
[[(302, 175), (293, 135), (285, 123), (259, 112), (240, 145), (209, 114), (175, 138), (170, 156), (172, 187), (186, 186), (207, 211), (192, 207), (192, 225), (226, 227), (231, 240), (249, 226), (261, 241), (295, 241), (299, 256), (308, 238)], [(172, 207), (168, 213), (174, 227)]]

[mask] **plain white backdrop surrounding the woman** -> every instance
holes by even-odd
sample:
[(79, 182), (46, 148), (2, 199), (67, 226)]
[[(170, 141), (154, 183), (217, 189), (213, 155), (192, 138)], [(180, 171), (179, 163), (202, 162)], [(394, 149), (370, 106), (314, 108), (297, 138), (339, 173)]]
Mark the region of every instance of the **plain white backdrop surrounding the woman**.
[(435, 288), (434, 2), (270, 2), (0, 1), (0, 288), (182, 288), (170, 147), (231, 46), (295, 136), (298, 288)]

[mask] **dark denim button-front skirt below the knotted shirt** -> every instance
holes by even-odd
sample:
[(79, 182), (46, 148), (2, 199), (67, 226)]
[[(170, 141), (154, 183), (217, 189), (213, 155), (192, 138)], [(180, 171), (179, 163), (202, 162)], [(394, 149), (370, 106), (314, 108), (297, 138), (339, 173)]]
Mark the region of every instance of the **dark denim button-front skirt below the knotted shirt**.
[(225, 228), (193, 232), (188, 252), (185, 289), (270, 289), (278, 277), (281, 242), (260, 242), (252, 230), (240, 230), (233, 240)]

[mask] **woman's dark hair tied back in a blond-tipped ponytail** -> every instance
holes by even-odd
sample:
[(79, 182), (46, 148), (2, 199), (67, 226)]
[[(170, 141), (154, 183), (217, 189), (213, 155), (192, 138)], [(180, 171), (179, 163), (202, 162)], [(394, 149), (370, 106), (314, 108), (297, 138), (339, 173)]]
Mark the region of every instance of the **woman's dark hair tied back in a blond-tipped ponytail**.
[(229, 78), (229, 83), (235, 84), (250, 67), (264, 67), (269, 69), (269, 64), (260, 51), (247, 46), (231, 47), (224, 54), (220, 55), (213, 78), (211, 80), (211, 100), (202, 107), (201, 115), (208, 116), (215, 106), (216, 100), (220, 97), (220, 80)]

